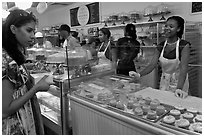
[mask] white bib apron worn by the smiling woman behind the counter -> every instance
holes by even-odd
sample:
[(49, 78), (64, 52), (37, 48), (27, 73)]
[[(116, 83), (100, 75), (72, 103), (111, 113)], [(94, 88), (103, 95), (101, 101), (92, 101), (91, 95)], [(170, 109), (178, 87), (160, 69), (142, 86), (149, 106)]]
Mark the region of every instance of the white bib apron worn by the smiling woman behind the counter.
[[(178, 39), (176, 43), (176, 59), (166, 59), (163, 57), (164, 49), (166, 47), (167, 41), (164, 43), (164, 47), (162, 49), (159, 61), (161, 63), (162, 68), (162, 76), (160, 80), (160, 89), (165, 91), (171, 91), (175, 92), (177, 83), (178, 83), (178, 77), (179, 77), (179, 42), (180, 39)], [(188, 93), (189, 89), (189, 81), (188, 81), (188, 74), (186, 76), (186, 80), (183, 86), (183, 91)]]

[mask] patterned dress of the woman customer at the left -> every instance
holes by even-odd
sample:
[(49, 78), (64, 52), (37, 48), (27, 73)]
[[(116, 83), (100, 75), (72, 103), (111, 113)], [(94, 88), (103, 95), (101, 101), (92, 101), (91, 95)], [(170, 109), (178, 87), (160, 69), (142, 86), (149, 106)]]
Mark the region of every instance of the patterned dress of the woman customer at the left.
[[(13, 85), (13, 99), (18, 99), (28, 92), (26, 82), (29, 75), (23, 65), (18, 66), (8, 54), (2, 53), (2, 80), (8, 79)], [(3, 135), (34, 135), (36, 127), (32, 111), (31, 100), (27, 101), (18, 111), (2, 119)]]

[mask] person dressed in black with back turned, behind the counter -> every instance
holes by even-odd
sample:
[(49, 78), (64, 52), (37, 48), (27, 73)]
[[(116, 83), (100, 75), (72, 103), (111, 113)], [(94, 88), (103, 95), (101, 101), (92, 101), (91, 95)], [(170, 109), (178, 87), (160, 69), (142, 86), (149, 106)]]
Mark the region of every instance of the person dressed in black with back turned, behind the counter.
[(140, 43), (136, 40), (135, 25), (127, 24), (124, 29), (124, 37), (118, 39), (113, 52), (113, 61), (116, 65), (116, 73), (129, 75), (129, 71), (136, 71), (134, 59), (140, 51)]

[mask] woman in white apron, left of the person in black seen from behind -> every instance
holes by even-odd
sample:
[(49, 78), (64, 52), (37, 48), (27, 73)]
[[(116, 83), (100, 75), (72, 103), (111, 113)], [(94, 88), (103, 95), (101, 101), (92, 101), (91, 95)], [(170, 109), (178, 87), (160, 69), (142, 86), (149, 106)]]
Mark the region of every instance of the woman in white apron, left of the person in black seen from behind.
[(98, 49), (99, 64), (111, 63), (112, 60), (112, 48), (114, 43), (110, 40), (111, 32), (108, 28), (101, 28), (99, 30), (99, 40), (101, 45)]

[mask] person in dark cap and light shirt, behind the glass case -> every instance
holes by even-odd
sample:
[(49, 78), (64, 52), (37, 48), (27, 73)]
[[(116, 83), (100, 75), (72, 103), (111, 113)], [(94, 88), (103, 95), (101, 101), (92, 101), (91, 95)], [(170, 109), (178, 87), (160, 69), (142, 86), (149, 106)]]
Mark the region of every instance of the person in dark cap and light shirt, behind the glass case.
[(75, 47), (81, 47), (79, 41), (71, 35), (70, 27), (67, 24), (62, 24), (60, 26), (59, 34), (65, 39), (63, 48), (68, 46), (68, 49), (74, 50)]

